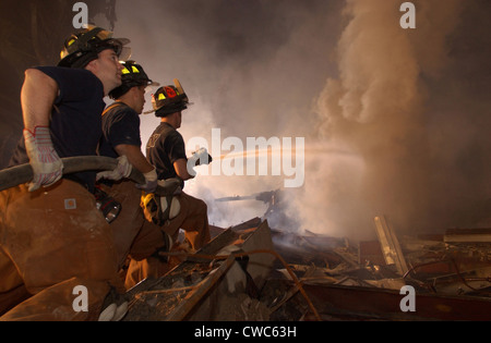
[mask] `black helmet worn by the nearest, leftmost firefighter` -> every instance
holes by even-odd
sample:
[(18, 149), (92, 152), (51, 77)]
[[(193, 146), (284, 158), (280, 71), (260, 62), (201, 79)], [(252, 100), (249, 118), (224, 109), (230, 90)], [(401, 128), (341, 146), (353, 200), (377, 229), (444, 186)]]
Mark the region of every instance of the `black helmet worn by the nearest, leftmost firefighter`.
[(131, 49), (124, 47), (130, 42), (127, 38), (112, 38), (112, 33), (101, 27), (88, 25), (71, 35), (64, 41), (60, 53), (59, 66), (85, 68), (97, 59), (99, 52), (112, 49), (120, 60), (130, 58)]

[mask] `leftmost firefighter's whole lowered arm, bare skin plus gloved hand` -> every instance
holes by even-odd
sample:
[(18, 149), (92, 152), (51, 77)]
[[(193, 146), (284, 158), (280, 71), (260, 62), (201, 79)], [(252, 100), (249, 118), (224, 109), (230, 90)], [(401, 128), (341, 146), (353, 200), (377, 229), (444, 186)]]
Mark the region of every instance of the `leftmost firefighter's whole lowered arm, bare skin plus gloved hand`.
[(24, 139), (33, 181), (29, 192), (40, 186), (49, 186), (62, 176), (63, 163), (51, 142), (49, 118), (58, 84), (45, 73), (28, 69), (21, 90), (21, 105), (24, 118)]

